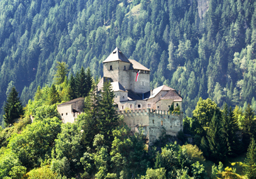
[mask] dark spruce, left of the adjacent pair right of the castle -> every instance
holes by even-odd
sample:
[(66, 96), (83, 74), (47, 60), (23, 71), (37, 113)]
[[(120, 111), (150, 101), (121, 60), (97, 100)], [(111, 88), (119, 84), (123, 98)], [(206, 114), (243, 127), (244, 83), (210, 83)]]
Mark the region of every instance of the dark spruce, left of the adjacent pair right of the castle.
[(214, 112), (207, 133), (209, 149), (211, 151), (210, 158), (216, 163), (225, 160), (226, 157), (226, 143), (221, 121), (221, 116)]

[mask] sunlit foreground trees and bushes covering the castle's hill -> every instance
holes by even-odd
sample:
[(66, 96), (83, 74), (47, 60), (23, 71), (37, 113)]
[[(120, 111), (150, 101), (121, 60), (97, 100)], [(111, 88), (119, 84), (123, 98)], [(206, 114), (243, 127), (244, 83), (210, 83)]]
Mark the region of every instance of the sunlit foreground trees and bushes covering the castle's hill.
[[(56, 70), (52, 86), (38, 86), (26, 107), (15, 87), (9, 92), (0, 178), (255, 178), (256, 122), (249, 104), (244, 111), (226, 103), (220, 109), (200, 97), (183, 131), (169, 136), (163, 128), (148, 145), (143, 129), (132, 133), (116, 113), (110, 82), (96, 92), (89, 68), (70, 79), (65, 62), (57, 62)], [(57, 105), (75, 95), (85, 97), (84, 112), (64, 124)]]

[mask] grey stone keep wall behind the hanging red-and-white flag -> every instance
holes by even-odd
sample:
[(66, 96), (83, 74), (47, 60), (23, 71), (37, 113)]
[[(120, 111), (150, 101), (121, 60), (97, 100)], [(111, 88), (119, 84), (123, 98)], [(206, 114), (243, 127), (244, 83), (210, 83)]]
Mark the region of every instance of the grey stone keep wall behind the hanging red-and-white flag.
[(141, 73), (139, 73), (138, 81), (136, 80), (137, 70), (129, 70), (130, 75), (130, 88), (135, 93), (145, 93), (150, 90), (150, 74), (142, 73), (143, 70), (141, 70)]

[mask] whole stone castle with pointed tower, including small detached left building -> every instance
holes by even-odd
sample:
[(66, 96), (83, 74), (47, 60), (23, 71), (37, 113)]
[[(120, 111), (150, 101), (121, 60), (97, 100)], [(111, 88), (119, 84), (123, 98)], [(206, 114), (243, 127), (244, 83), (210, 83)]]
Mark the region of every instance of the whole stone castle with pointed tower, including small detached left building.
[[(163, 129), (171, 136), (183, 129), (183, 113), (168, 112), (172, 104), (182, 111), (181, 95), (166, 85), (150, 90), (150, 70), (126, 58), (119, 48), (116, 47), (104, 60), (103, 74), (97, 89), (101, 90), (104, 82), (111, 82), (116, 110), (123, 115), (131, 131), (138, 132), (142, 127), (148, 142), (152, 143)], [(83, 101), (84, 98), (78, 98), (58, 105), (57, 110), (64, 123), (75, 121), (82, 112)]]

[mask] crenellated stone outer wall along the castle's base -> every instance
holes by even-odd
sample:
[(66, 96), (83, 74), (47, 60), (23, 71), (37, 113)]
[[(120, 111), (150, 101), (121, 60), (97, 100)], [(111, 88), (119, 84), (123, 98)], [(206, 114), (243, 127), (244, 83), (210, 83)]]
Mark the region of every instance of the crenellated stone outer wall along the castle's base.
[(166, 134), (176, 136), (180, 130), (183, 130), (183, 115), (168, 114), (167, 111), (155, 111), (152, 109), (138, 109), (120, 111), (124, 121), (131, 131), (138, 132), (139, 127), (143, 127), (144, 134), (148, 138), (148, 143), (159, 139), (162, 131), (165, 129)]

